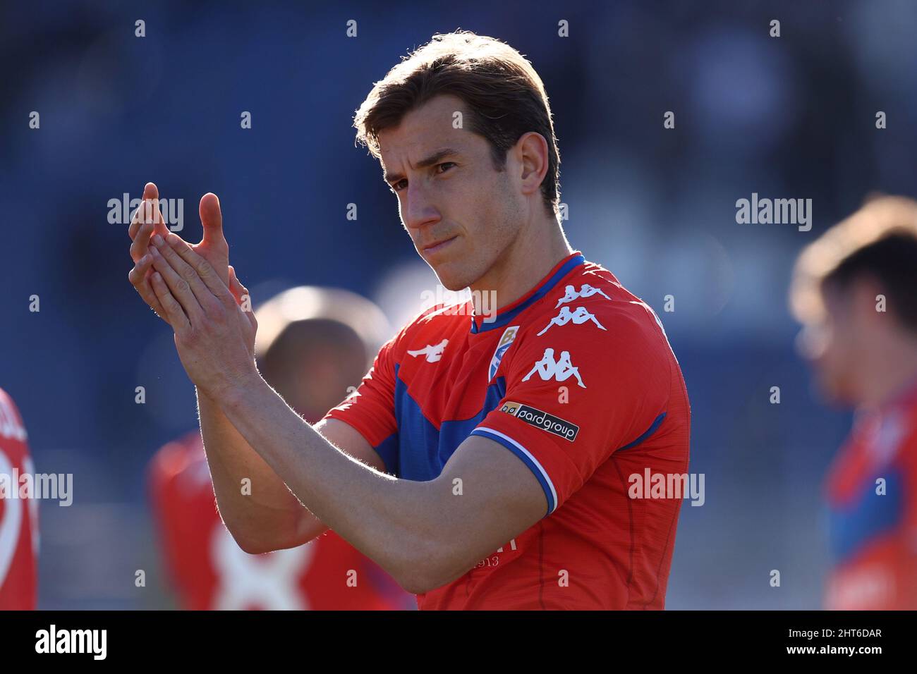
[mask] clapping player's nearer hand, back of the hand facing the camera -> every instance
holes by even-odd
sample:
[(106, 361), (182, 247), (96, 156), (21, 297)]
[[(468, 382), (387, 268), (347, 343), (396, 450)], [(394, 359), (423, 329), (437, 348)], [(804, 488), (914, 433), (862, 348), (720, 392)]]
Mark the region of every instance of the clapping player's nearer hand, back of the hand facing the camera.
[(182, 238), (154, 234), (150, 243), (153, 293), (175, 331), (175, 347), (191, 381), (218, 401), (243, 381), (260, 378), (255, 315), (239, 306), (213, 265)]

